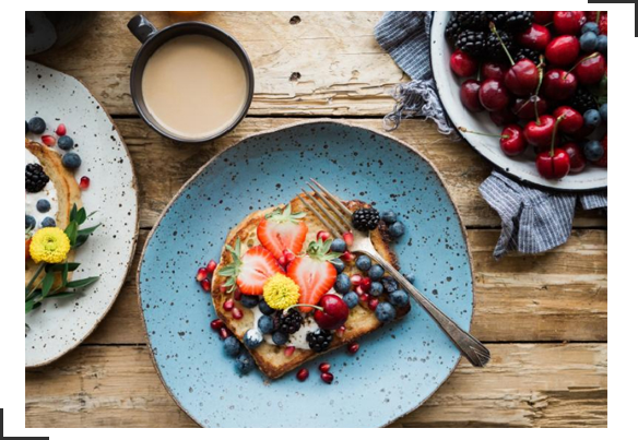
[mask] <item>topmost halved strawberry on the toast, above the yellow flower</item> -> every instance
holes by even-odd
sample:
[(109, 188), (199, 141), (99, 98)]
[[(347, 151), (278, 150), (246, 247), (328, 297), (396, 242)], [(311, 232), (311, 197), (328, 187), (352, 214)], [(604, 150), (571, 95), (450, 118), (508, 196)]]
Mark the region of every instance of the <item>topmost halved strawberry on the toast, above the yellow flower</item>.
[(257, 238), (275, 259), (280, 259), (285, 250), (297, 254), (304, 248), (308, 226), (302, 221), (306, 213), (292, 213), (288, 204), (283, 210), (277, 209), (259, 223)]

